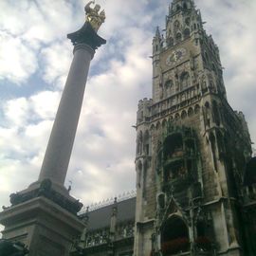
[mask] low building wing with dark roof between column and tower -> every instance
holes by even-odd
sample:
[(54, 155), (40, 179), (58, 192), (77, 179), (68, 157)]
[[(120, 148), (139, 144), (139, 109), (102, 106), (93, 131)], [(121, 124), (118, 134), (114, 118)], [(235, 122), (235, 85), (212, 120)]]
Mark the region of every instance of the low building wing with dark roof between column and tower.
[(85, 225), (71, 256), (132, 256), (136, 197), (117, 201), (81, 214)]

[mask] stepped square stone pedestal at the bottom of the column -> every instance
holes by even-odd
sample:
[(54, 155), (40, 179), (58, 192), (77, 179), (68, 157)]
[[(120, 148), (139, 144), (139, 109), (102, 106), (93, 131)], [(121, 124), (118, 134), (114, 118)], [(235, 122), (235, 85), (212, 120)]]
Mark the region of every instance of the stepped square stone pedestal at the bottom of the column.
[(44, 196), (0, 212), (0, 223), (3, 238), (25, 244), (29, 256), (67, 256), (84, 229), (77, 216)]

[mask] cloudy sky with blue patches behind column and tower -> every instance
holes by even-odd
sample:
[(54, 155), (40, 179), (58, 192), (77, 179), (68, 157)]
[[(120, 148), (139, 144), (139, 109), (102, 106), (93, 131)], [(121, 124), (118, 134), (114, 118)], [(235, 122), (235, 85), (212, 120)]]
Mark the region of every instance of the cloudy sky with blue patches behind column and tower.
[[(84, 205), (135, 188), (137, 101), (151, 97), (152, 38), (171, 0), (99, 0), (107, 40), (91, 63), (66, 186)], [(231, 106), (256, 141), (256, 1), (195, 0), (220, 48)], [(0, 1), (0, 206), (40, 172), (82, 0)]]

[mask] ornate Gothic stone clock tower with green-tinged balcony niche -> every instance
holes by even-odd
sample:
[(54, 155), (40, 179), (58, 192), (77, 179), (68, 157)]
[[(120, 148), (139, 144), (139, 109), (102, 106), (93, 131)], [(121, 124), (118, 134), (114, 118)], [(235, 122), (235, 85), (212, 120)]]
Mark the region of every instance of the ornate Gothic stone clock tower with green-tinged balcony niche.
[(135, 250), (244, 255), (241, 202), (251, 141), (227, 101), (218, 46), (192, 0), (153, 39), (153, 99), (138, 102)]

